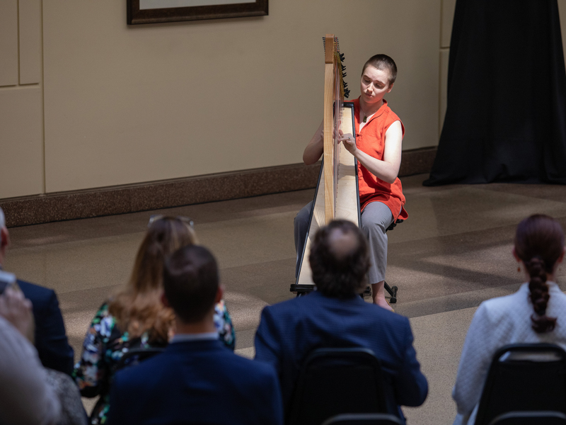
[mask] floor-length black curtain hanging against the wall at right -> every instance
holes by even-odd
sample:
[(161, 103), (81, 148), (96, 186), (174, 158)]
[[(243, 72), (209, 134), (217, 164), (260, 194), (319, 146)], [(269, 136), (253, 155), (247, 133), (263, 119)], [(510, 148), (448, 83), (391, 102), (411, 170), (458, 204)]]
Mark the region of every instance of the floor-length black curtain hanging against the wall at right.
[(566, 183), (557, 0), (457, 0), (448, 101), (425, 186)]

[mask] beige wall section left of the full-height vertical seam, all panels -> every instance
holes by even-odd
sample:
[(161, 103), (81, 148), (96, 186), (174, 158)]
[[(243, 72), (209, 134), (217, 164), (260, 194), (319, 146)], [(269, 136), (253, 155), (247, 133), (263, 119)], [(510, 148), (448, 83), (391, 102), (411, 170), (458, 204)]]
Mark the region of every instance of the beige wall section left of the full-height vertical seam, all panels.
[(0, 198), (44, 188), (41, 0), (0, 0)]

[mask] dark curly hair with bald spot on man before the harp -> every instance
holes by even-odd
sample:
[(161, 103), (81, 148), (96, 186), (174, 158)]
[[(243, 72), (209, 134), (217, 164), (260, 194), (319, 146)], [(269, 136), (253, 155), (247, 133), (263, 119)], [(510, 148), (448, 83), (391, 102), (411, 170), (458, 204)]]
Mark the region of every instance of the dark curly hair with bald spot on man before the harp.
[(366, 285), (369, 269), (367, 242), (347, 220), (335, 220), (314, 237), (308, 256), (316, 288), (328, 297), (350, 298)]

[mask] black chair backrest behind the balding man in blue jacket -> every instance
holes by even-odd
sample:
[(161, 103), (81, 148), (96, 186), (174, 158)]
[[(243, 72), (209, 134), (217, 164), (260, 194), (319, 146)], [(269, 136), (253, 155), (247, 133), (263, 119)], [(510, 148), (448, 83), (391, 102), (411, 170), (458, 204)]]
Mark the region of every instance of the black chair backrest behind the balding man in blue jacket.
[(301, 368), (287, 424), (320, 425), (341, 413), (383, 413), (381, 364), (367, 348), (318, 348)]

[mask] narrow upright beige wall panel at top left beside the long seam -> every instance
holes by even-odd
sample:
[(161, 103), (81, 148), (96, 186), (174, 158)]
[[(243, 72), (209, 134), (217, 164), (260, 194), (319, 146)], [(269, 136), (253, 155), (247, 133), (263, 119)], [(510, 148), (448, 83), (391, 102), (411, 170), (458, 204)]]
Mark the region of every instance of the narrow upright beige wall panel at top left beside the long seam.
[(19, 0), (20, 84), (41, 81), (41, 0)]

